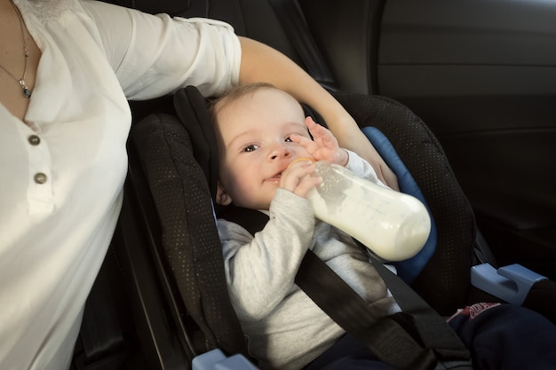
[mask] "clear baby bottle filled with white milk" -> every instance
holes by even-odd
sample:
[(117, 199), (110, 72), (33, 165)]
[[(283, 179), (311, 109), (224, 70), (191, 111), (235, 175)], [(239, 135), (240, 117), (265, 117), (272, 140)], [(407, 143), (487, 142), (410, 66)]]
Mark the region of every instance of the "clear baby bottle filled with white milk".
[(415, 256), (431, 219), (417, 198), (357, 177), (343, 166), (317, 161), (322, 184), (307, 195), (314, 216), (353, 236), (386, 261)]

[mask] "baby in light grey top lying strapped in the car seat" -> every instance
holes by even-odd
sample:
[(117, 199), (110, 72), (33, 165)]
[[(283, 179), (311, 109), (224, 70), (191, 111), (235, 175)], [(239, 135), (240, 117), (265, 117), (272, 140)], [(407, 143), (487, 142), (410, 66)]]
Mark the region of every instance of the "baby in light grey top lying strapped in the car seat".
[(316, 220), (306, 200), (322, 182), (311, 176), (313, 160), (346, 166), (380, 183), (370, 164), (340, 148), (330, 130), (305, 117), (295, 98), (271, 85), (236, 87), (212, 110), (219, 150), (217, 203), (270, 216), (255, 235), (218, 219), (228, 289), (258, 365), (302, 368), (345, 334), (294, 284), (309, 248), (369, 304), (385, 314), (398, 311), (361, 248), (346, 233)]

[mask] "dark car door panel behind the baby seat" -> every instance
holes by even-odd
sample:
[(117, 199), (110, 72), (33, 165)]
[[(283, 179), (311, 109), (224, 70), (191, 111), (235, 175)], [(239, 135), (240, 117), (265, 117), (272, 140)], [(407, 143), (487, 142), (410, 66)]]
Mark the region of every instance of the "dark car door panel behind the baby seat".
[(340, 89), (394, 98), (433, 130), (498, 262), (554, 278), (556, 3), (300, 3)]

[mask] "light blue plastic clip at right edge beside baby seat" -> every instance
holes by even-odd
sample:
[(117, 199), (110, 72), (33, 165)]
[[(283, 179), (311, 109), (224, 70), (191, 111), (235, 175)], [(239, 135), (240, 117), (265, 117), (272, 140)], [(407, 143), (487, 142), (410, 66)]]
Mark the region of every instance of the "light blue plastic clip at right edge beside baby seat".
[(521, 305), (536, 282), (547, 279), (520, 264), (510, 264), (496, 270), (490, 264), (471, 268), (471, 283), (507, 303)]

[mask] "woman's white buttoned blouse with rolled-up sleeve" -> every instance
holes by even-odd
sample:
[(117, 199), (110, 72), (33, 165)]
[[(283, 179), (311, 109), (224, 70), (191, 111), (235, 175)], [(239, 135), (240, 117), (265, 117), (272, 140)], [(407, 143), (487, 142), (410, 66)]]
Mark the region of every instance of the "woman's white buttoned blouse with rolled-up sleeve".
[(27, 124), (0, 105), (0, 369), (62, 370), (121, 207), (127, 99), (216, 95), (237, 83), (241, 47), (214, 20), (14, 2), (42, 57)]

